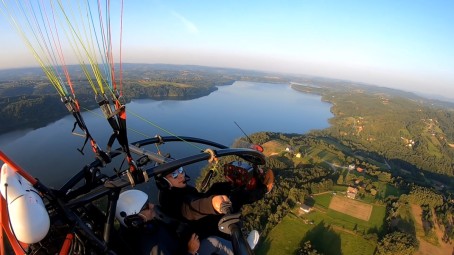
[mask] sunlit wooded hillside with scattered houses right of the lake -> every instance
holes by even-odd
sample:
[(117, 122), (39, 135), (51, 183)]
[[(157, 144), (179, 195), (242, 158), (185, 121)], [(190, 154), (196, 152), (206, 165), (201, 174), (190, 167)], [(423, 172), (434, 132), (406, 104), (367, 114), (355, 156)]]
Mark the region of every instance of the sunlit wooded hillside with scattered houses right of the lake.
[(323, 130), (352, 148), (373, 152), (412, 175), (454, 176), (454, 112), (424, 101), (364, 91), (326, 93), (333, 103)]

